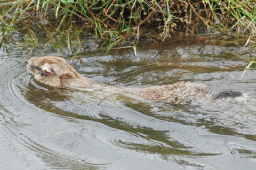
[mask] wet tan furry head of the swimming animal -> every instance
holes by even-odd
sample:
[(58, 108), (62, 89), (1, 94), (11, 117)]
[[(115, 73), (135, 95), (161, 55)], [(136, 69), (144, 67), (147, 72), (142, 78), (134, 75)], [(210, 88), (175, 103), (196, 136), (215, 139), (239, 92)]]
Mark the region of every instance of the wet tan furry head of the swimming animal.
[(67, 80), (79, 78), (77, 71), (61, 57), (30, 58), (27, 70), (37, 81), (59, 88), (66, 88)]

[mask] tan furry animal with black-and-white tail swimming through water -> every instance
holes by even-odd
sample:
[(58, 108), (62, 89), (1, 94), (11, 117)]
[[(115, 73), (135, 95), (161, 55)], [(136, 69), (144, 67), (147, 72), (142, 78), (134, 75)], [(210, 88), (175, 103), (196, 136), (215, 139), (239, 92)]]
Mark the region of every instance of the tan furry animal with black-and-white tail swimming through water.
[(170, 85), (151, 86), (147, 88), (125, 88), (99, 83), (80, 75), (64, 58), (44, 56), (30, 58), (27, 71), (44, 84), (57, 88), (92, 91), (92, 89), (113, 89), (116, 93), (129, 93), (145, 99), (171, 104), (190, 104), (212, 100), (243, 100), (247, 95), (238, 91), (224, 91), (218, 94), (204, 84), (180, 81)]

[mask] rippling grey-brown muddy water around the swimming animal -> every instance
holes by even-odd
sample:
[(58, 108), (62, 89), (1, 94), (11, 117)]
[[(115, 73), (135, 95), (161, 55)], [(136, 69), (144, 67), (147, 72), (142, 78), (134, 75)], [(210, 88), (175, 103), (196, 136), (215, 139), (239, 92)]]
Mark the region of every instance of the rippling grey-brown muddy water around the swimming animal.
[(36, 82), (30, 57), (66, 51), (0, 50), (0, 169), (254, 169), (255, 69), (239, 80), (240, 48), (195, 42), (84, 53), (70, 62), (84, 76), (115, 86), (148, 87), (181, 80), (214, 91), (237, 90), (245, 104), (184, 106)]

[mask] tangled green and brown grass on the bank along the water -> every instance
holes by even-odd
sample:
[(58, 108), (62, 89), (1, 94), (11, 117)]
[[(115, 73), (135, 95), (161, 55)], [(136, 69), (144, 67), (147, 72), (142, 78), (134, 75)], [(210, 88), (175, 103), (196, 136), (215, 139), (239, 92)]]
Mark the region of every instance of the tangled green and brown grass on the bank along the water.
[[(73, 56), (81, 53), (81, 37), (93, 33), (106, 51), (136, 45), (146, 28), (155, 40), (185, 35), (225, 34), (255, 49), (255, 0), (3, 0), (0, 2), (0, 46), (20, 47), (63, 40)], [(38, 33), (40, 30), (40, 33)], [(22, 39), (15, 38), (22, 35)], [(43, 38), (42, 38), (43, 37)]]

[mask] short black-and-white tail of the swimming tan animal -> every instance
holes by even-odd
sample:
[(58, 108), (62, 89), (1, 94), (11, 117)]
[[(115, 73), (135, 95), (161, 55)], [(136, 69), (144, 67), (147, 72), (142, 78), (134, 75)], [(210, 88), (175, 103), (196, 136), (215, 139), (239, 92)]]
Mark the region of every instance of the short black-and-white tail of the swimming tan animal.
[(223, 91), (213, 97), (213, 100), (246, 102), (248, 96), (239, 91)]

